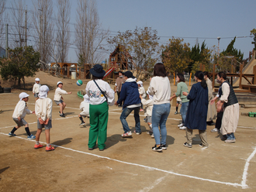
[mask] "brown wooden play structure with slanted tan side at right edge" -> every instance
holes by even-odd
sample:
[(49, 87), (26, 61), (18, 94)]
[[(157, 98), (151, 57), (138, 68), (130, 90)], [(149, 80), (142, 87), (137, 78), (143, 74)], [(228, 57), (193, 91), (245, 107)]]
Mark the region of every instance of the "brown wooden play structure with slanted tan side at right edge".
[[(240, 64), (239, 73), (234, 73), (234, 67), (231, 67), (230, 73), (227, 73), (227, 77), (230, 77), (230, 84), (234, 87), (235, 92), (240, 93), (256, 93), (256, 58), (255, 52), (251, 60), (246, 66)], [(213, 80), (216, 77), (216, 64), (213, 65), (213, 72), (209, 73)], [(204, 71), (205, 66), (200, 65), (200, 70)], [(213, 81), (214, 87), (215, 81)]]

